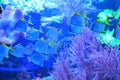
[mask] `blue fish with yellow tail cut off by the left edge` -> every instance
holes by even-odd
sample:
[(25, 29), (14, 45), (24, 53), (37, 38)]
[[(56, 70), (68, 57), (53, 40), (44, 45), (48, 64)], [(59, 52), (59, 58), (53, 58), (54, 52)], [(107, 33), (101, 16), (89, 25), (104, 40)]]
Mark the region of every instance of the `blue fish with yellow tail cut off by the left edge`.
[(0, 44), (0, 56), (1, 57), (5, 57), (5, 58), (8, 58), (8, 54), (9, 54), (9, 47), (6, 46), (4, 43), (3, 44)]

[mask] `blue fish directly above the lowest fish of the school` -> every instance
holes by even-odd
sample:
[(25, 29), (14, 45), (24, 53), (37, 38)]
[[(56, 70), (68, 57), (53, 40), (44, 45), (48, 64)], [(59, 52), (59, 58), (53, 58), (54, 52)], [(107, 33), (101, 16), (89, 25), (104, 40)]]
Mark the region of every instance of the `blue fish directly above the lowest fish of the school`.
[(48, 44), (44, 40), (38, 40), (34, 45), (34, 50), (38, 53), (47, 53), (48, 50)]

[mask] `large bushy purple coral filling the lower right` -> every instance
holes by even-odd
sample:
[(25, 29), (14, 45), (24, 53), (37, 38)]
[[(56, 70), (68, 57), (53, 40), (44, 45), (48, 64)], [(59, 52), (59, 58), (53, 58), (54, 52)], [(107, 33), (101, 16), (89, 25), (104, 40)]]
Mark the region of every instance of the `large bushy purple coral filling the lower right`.
[[(57, 59), (53, 70), (55, 80), (119, 80), (118, 47), (101, 44), (86, 27), (82, 31), (82, 34), (73, 37), (71, 47), (60, 53), (62, 56)], [(66, 75), (70, 77), (65, 78)]]

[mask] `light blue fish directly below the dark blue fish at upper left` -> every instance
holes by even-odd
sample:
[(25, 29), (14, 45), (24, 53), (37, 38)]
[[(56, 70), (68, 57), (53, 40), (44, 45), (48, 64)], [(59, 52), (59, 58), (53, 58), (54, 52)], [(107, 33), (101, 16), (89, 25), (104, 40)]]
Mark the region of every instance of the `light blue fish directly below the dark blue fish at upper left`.
[(36, 41), (39, 40), (39, 35), (40, 35), (39, 30), (32, 28), (26, 32), (25, 38), (31, 41)]

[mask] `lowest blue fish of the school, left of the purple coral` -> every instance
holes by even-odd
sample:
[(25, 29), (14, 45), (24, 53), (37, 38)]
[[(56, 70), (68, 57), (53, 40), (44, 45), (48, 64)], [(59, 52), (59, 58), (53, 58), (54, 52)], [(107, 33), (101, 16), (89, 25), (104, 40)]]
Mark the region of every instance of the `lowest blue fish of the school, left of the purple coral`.
[(35, 52), (31, 57), (28, 58), (28, 61), (30, 61), (36, 65), (43, 66), (44, 59), (45, 59), (44, 55)]

